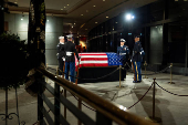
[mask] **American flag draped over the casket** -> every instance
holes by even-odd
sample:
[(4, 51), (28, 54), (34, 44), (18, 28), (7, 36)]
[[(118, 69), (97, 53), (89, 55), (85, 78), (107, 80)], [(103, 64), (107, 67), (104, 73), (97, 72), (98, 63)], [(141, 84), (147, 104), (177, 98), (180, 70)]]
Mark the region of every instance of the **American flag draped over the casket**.
[[(112, 66), (122, 65), (116, 53), (79, 53), (80, 67), (83, 66)], [(79, 61), (75, 58), (75, 66), (77, 69)]]

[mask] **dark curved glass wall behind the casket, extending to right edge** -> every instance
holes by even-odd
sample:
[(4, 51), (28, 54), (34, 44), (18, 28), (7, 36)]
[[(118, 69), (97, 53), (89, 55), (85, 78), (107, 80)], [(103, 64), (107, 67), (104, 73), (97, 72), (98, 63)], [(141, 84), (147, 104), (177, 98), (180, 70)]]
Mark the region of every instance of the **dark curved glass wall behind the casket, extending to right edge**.
[(125, 20), (126, 12), (122, 12), (97, 25), (103, 27), (101, 32), (95, 30), (97, 27), (92, 29), (88, 33), (88, 44), (94, 45), (93, 41), (97, 41), (95, 38), (102, 35), (101, 52), (116, 52), (119, 40), (125, 39), (132, 53), (134, 35), (142, 33), (140, 42), (146, 52), (144, 61), (160, 66), (174, 63), (174, 66), (187, 67), (188, 1), (157, 0), (132, 12), (135, 20), (130, 22)]

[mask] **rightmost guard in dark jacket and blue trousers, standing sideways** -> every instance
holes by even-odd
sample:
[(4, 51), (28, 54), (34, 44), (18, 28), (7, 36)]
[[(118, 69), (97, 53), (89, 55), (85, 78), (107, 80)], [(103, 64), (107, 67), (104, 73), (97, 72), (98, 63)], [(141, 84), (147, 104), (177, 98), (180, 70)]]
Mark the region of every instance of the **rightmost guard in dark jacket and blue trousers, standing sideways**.
[(135, 45), (133, 49), (133, 55), (132, 55), (132, 63), (134, 67), (134, 81), (133, 83), (139, 83), (142, 82), (142, 71), (140, 71), (140, 64), (143, 60), (144, 50), (142, 48), (142, 44), (139, 42), (139, 35), (135, 37)]

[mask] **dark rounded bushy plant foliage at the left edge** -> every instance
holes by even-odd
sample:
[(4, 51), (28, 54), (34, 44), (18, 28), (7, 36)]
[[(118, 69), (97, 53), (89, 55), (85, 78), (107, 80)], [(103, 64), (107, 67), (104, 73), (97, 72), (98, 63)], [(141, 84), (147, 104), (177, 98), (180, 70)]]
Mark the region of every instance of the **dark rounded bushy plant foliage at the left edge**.
[(24, 42), (20, 41), (18, 34), (0, 35), (0, 88), (19, 87), (24, 84), (29, 71)]

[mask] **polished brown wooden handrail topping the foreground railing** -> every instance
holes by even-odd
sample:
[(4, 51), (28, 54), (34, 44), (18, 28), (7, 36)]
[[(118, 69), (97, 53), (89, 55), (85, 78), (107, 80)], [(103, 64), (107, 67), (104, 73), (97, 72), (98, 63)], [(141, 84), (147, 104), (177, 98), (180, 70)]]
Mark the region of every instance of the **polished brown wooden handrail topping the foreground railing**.
[(43, 67), (35, 69), (38, 72), (42, 73), (43, 75), (48, 76), (52, 81), (54, 81), (60, 86), (64, 87), (65, 90), (70, 91), (77, 97), (80, 97), (82, 101), (87, 103), (90, 106), (94, 107), (96, 111), (101, 112), (105, 116), (109, 117), (114, 122), (116, 122), (119, 125), (157, 125), (154, 123), (150, 123), (143, 117), (136, 116), (135, 114), (125, 112), (121, 110), (121, 105), (115, 105), (101, 96), (79, 86), (74, 83), (59, 77), (51, 72), (46, 71)]

